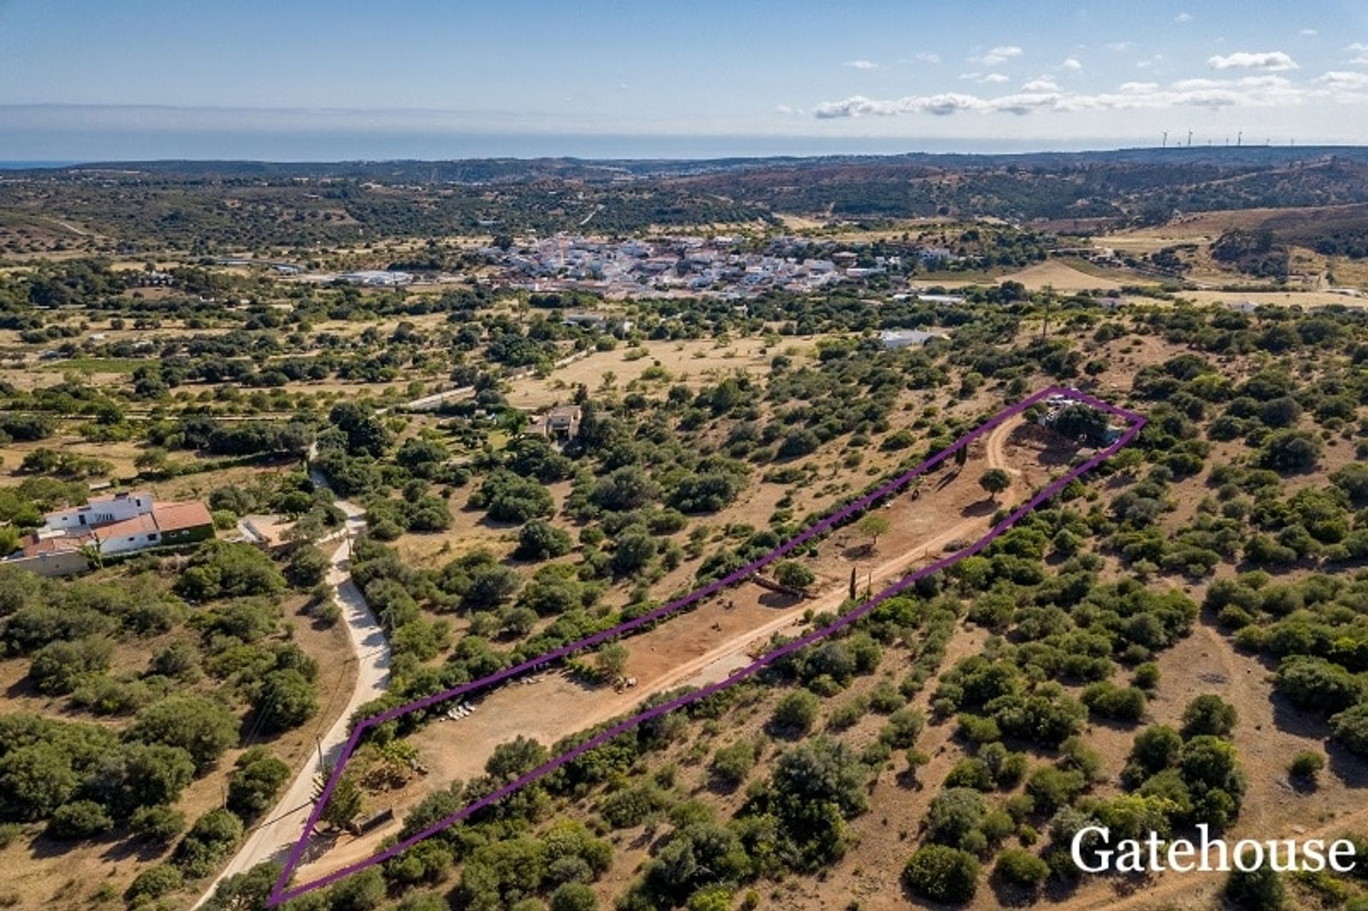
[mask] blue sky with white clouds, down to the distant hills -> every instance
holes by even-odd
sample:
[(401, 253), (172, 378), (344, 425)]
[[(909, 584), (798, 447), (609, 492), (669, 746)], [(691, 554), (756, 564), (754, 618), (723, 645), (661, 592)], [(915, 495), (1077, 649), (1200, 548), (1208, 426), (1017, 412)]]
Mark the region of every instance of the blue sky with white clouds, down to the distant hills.
[(0, 160), (1368, 141), (1368, 1), (0, 0)]

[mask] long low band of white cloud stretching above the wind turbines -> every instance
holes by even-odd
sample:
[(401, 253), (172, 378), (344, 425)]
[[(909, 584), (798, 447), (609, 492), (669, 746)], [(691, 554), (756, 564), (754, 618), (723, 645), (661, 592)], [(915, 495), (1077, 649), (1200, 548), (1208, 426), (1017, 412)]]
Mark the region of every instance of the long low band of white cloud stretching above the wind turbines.
[[(1357, 77), (1364, 75), (1360, 81)], [(1279, 75), (1250, 75), (1222, 79), (1182, 79), (1168, 85), (1159, 82), (1126, 82), (1116, 92), (1081, 93), (1023, 89), (1015, 94), (981, 97), (949, 92), (929, 96), (878, 100), (852, 96), (841, 101), (826, 101), (813, 109), (818, 119), (899, 116), (932, 114), (949, 116), (963, 112), (1027, 115), (1034, 111), (1131, 111), (1174, 108), (1275, 108), (1297, 105), (1309, 100), (1358, 100), (1357, 90), (1368, 86), (1368, 74), (1327, 74), (1315, 88), (1295, 85)]]

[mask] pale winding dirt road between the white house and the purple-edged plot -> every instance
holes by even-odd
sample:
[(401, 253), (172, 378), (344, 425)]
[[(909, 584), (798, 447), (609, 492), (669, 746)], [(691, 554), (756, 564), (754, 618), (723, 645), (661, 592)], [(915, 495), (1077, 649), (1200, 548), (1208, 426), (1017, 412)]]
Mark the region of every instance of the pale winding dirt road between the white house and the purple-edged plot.
[[(313, 456), (316, 451), (311, 449), (309, 458), (312, 460)], [(317, 487), (328, 486), (316, 469), (309, 469), (309, 477)], [(367, 702), (378, 699), (389, 685), (390, 643), (384, 637), (384, 629), (365, 603), (365, 598), (361, 596), (361, 591), (352, 581), (350, 572), (352, 542), (365, 531), (365, 510), (349, 499), (335, 498), (334, 502), (338, 509), (346, 513), (346, 524), (341, 531), (328, 535), (319, 543), (337, 542), (328, 568), (328, 583), (337, 592), (335, 599), (338, 607), (342, 609), (342, 620), (346, 622), (352, 640), (352, 657), (347, 661), (358, 662), (352, 698), (327, 733), (319, 736), (319, 750), (309, 754), (304, 769), (272, 807), (265, 822), (249, 832), (246, 841), (242, 843), (233, 860), (196, 901), (196, 908), (213, 895), (220, 881), (238, 873), (246, 873), (276, 855), (283, 855), (300, 839), (309, 810), (313, 807), (313, 782), (320, 771), (319, 755), (323, 755), (328, 766), (335, 765), (350, 733), (349, 722), (353, 713)]]

